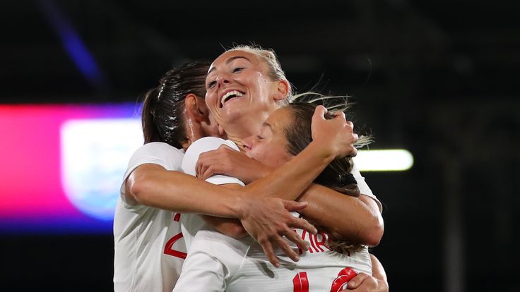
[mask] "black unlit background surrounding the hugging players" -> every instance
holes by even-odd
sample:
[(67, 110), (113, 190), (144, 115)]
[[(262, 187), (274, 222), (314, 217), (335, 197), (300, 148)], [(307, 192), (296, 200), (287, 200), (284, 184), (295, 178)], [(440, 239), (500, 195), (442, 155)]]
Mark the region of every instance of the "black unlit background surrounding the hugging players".
[[(391, 291), (520, 291), (518, 1), (3, 1), (0, 103), (135, 102), (170, 66), (275, 49), (297, 92), (353, 95), (384, 203)], [(83, 68), (63, 35), (76, 35)], [(70, 40), (70, 39), (69, 39)], [(69, 44), (81, 48), (74, 44)], [(83, 58), (84, 59), (84, 58)], [(82, 71), (83, 70), (83, 71)], [(3, 142), (4, 138), (1, 138)], [(108, 235), (1, 236), (6, 291), (111, 291)]]

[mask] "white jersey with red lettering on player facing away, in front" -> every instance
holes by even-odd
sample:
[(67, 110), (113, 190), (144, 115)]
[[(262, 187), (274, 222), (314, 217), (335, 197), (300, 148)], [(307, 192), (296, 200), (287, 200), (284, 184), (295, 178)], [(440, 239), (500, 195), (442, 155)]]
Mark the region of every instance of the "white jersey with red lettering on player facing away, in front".
[[(229, 145), (230, 141), (213, 138), (209, 142)], [(236, 149), (236, 148), (235, 148)], [(198, 154), (193, 154), (198, 157)], [(191, 161), (194, 169), (196, 159), (184, 157), (183, 167)], [(379, 200), (361, 177), (358, 169), (354, 174), (361, 193)], [(297, 213), (293, 213), (297, 216)], [(182, 224), (189, 222), (182, 221)], [(295, 230), (309, 243), (310, 250), (299, 250), (300, 260), (293, 262), (281, 250), (276, 250), (281, 266), (273, 267), (261, 245), (247, 236), (240, 240), (213, 231), (208, 226), (196, 233), (191, 240), (188, 257), (182, 274), (173, 291), (341, 291), (345, 284), (345, 271), (372, 274), (372, 262), (368, 248), (343, 255), (328, 248), (328, 236), (319, 232), (311, 235), (301, 229)]]

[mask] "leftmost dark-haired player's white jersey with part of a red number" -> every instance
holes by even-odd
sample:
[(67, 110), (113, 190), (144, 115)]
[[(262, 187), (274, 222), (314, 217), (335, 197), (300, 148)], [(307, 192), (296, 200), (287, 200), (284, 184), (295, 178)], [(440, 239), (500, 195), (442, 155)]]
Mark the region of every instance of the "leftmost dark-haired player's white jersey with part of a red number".
[(180, 171), (183, 156), (183, 150), (150, 142), (130, 158), (114, 215), (115, 292), (172, 291), (175, 286), (186, 257), (179, 214), (126, 197), (124, 182), (141, 164)]

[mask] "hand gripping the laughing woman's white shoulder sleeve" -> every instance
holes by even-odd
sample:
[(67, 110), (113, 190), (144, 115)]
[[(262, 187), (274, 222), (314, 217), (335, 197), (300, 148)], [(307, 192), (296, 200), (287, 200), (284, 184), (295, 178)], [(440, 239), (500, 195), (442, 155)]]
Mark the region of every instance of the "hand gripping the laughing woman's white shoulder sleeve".
[(269, 172), (271, 169), (265, 164), (228, 145), (220, 145), (217, 150), (201, 153), (196, 164), (196, 176), (203, 180), (213, 174), (225, 174), (247, 184), (266, 176)]

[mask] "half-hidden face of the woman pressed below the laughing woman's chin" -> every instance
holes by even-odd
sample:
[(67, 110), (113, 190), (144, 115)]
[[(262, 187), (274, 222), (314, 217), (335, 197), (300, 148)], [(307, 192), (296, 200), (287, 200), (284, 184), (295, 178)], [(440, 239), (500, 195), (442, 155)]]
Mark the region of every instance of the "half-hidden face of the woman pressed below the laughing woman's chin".
[(287, 108), (274, 111), (262, 123), (259, 133), (244, 139), (247, 156), (273, 167), (288, 162), (293, 155), (287, 150), (285, 128), (291, 125), (292, 118), (293, 115)]

